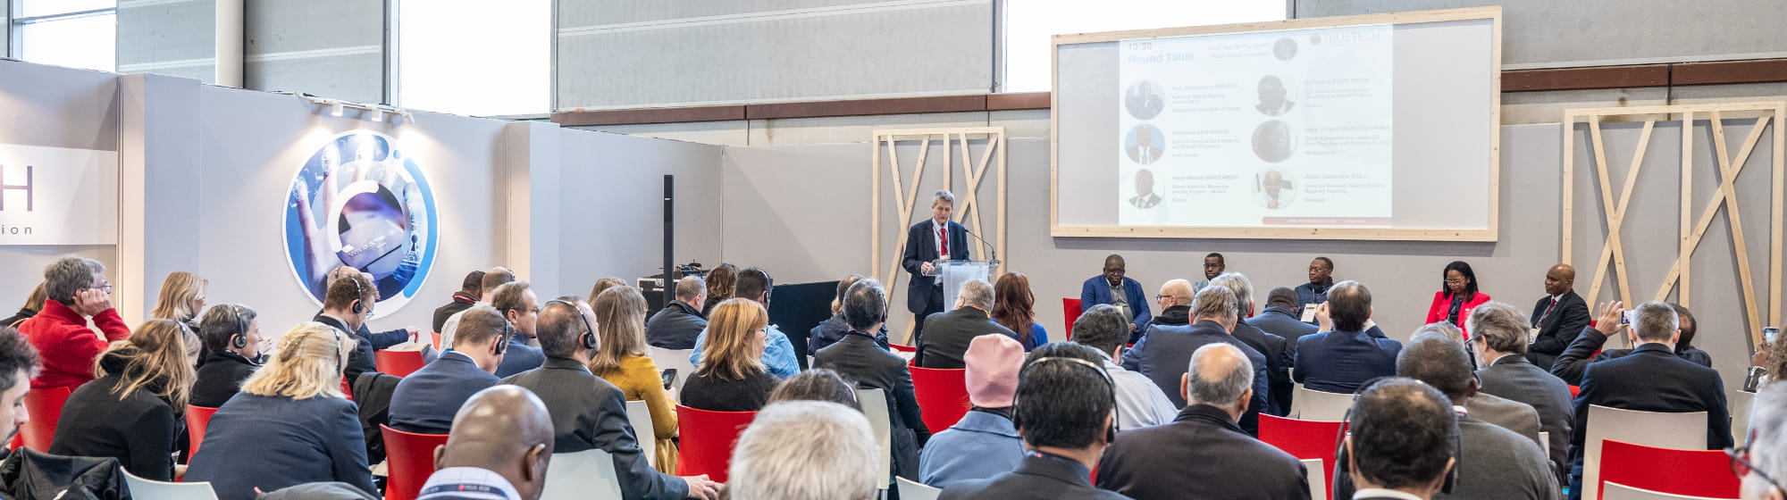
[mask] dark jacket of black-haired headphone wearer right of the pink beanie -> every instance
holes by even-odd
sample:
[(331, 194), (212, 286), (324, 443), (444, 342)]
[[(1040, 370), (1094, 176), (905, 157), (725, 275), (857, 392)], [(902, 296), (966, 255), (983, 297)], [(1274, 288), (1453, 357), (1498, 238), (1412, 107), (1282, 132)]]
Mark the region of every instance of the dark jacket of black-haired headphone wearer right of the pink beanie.
[(1013, 471), (990, 479), (952, 482), (949, 488), (944, 488), (944, 493), (936, 498), (1120, 500), (1129, 496), (1092, 488), (1092, 480), (1086, 479), (1085, 466), (1074, 466), (1060, 459), (1028, 455)]

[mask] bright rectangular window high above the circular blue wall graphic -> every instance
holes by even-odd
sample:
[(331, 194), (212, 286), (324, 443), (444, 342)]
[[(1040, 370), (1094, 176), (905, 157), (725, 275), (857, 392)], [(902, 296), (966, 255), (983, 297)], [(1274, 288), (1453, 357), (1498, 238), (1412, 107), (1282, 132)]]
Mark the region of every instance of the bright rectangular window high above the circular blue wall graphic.
[(468, 116), (552, 111), (552, 2), (402, 2), (397, 104)]

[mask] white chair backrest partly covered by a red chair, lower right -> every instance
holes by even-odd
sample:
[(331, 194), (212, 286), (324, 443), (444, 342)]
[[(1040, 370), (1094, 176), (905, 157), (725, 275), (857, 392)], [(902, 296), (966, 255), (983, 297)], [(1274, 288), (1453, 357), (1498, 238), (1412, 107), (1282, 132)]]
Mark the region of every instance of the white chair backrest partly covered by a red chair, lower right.
[[(1581, 498), (1601, 498), (1601, 446), (1607, 439), (1632, 445), (1705, 450), (1707, 412), (1653, 412), (1589, 405), (1583, 432)], [(1730, 475), (1730, 471), (1726, 471)]]

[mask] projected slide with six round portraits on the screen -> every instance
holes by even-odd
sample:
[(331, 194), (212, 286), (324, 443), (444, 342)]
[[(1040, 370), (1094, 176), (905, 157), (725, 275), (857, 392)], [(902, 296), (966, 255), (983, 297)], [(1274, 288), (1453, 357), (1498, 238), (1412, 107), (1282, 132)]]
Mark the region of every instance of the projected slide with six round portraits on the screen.
[(1120, 225), (1390, 227), (1392, 25), (1117, 43)]

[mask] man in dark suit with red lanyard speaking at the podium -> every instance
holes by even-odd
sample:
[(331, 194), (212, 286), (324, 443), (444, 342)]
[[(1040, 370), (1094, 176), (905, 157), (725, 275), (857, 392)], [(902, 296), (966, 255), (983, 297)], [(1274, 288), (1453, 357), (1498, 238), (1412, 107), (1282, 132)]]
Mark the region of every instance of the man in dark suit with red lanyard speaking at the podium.
[[(956, 195), (949, 189), (931, 193), (931, 218), (906, 230), (906, 252), (901, 266), (911, 273), (906, 284), (906, 309), (915, 314), (911, 343), (924, 334), (924, 318), (944, 312), (944, 280), (935, 277), (933, 261), (960, 261), (969, 257), (969, 230), (949, 220), (956, 209)], [(947, 236), (947, 238), (945, 238)]]

